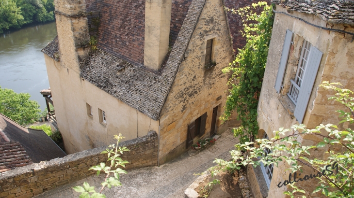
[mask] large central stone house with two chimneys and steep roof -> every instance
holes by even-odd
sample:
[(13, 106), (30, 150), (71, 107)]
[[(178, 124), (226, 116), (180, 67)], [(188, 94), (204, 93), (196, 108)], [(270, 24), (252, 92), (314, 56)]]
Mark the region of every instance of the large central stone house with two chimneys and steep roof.
[(218, 117), (228, 74), (221, 70), (244, 40), (241, 20), (224, 6), (247, 3), (55, 0), (58, 37), (42, 52), (66, 152), (107, 146), (118, 133), (130, 140), (156, 131), (162, 164), (225, 131)]

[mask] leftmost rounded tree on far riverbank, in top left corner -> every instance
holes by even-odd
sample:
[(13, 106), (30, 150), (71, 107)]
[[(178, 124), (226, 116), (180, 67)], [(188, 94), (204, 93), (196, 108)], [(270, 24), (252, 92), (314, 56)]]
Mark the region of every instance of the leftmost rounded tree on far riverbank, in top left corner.
[(0, 0), (0, 33), (8, 28), (19, 28), (23, 24), (21, 9), (13, 0)]

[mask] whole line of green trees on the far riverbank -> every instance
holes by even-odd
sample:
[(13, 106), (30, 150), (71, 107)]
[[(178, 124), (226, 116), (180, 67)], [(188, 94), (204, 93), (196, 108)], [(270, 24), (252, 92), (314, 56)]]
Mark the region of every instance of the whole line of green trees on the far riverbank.
[(0, 0), (0, 33), (32, 22), (54, 20), (53, 0)]

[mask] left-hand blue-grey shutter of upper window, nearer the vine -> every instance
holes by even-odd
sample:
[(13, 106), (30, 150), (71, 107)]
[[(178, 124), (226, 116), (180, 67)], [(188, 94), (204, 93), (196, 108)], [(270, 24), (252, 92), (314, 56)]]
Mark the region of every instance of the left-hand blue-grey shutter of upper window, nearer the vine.
[(292, 32), (287, 29), (287, 33), (285, 34), (284, 44), (283, 44), (283, 52), (281, 53), (281, 58), (279, 62), (278, 74), (276, 75), (274, 88), (277, 93), (280, 93), (280, 88), (283, 83), (285, 68), (287, 67), (291, 40), (292, 40)]

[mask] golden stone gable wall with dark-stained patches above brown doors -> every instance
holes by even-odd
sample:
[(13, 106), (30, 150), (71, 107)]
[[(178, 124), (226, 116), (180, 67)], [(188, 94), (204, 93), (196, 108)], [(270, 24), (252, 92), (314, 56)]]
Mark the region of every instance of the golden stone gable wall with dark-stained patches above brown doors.
[[(161, 110), (160, 163), (187, 150), (188, 125), (202, 114), (208, 114), (205, 137), (209, 137), (213, 108), (222, 113), (227, 94), (228, 74), (221, 71), (232, 61), (232, 46), (222, 0), (206, 0), (193, 31), (185, 57)], [(205, 69), (207, 40), (213, 39), (211, 60), (216, 66)], [(227, 127), (216, 126), (221, 133)], [(197, 138), (195, 138), (195, 141)]]

